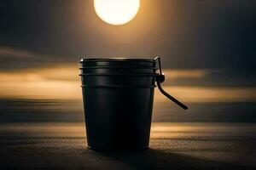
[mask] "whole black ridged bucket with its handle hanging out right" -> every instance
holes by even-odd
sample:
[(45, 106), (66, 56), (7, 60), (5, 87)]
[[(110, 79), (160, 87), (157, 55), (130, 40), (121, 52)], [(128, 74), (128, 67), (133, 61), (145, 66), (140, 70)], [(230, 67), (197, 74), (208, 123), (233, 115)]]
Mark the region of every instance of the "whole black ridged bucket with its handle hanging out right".
[(81, 59), (88, 147), (94, 150), (148, 148), (154, 88), (187, 109), (160, 87), (164, 75), (156, 59)]

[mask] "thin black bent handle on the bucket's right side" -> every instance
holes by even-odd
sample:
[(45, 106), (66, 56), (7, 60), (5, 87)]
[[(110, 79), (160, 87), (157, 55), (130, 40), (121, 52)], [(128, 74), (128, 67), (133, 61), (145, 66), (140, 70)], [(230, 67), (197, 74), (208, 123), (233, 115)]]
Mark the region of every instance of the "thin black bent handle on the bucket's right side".
[(165, 74), (162, 73), (162, 68), (161, 68), (161, 61), (160, 61), (160, 57), (157, 56), (154, 58), (155, 61), (158, 60), (158, 64), (159, 64), (159, 70), (160, 73), (157, 74), (156, 76), (156, 83), (157, 83), (157, 87), (160, 89), (160, 92), (162, 94), (164, 94), (168, 99), (171, 99), (175, 104), (179, 105), (180, 107), (182, 107), (184, 110), (188, 109), (187, 105), (184, 105), (183, 103), (181, 103), (180, 101), (178, 101), (177, 99), (175, 99), (174, 97), (172, 97), (172, 95), (167, 94), (167, 92), (161, 87), (161, 83), (165, 81)]

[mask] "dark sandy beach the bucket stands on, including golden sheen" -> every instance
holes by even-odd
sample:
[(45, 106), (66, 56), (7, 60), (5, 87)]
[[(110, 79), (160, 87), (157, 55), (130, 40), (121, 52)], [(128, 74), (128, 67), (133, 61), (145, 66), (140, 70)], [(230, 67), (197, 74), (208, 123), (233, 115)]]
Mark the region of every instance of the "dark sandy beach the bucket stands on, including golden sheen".
[(255, 169), (256, 124), (153, 123), (150, 148), (86, 149), (83, 123), (5, 123), (2, 169)]

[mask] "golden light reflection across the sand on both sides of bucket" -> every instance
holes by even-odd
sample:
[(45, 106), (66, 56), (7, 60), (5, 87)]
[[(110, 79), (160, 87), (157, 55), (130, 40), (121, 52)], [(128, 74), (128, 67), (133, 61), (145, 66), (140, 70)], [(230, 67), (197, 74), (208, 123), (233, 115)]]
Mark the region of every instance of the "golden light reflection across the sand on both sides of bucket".
[[(0, 133), (32, 137), (85, 137), (83, 122), (3, 123)], [(151, 139), (183, 139), (256, 133), (256, 123), (153, 122)], [(1, 134), (0, 134), (1, 136)]]

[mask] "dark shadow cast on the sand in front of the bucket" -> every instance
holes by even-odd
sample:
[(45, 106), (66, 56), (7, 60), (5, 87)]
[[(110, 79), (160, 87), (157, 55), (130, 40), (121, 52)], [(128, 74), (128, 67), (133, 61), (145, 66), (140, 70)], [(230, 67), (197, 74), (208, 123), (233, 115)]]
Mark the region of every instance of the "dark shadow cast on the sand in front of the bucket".
[(93, 151), (100, 156), (111, 159), (116, 169), (253, 169), (246, 166), (225, 163), (222, 161), (208, 161), (192, 156), (175, 154), (164, 150), (148, 149), (143, 151)]

